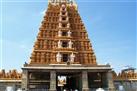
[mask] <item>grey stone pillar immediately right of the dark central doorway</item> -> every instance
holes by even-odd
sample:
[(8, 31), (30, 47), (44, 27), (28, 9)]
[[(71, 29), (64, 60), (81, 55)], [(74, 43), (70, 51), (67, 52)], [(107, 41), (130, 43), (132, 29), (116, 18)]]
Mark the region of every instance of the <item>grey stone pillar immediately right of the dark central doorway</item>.
[(82, 91), (89, 91), (87, 71), (82, 71)]

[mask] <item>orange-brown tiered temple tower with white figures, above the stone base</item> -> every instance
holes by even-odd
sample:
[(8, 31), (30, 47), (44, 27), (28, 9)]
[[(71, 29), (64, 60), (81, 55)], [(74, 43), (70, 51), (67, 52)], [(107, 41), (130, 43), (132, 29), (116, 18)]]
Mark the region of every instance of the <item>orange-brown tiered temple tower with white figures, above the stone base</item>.
[(31, 55), (30, 65), (97, 64), (77, 7), (68, 3), (49, 1)]

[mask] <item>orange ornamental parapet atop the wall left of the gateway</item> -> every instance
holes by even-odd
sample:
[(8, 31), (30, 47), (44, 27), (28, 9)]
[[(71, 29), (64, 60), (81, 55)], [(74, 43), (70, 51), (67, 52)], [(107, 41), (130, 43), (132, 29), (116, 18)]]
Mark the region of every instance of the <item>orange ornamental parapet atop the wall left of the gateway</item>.
[(17, 72), (17, 70), (10, 70), (5, 72), (5, 70), (0, 71), (0, 80), (21, 80), (22, 73)]

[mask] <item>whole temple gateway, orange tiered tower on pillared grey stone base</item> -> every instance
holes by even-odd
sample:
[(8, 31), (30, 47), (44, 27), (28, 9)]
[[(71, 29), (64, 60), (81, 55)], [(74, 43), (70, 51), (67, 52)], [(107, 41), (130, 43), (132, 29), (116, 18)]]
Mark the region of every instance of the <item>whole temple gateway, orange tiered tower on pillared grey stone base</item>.
[(74, 0), (48, 0), (30, 61), (22, 73), (2, 70), (0, 91), (115, 91), (123, 74), (97, 63)]

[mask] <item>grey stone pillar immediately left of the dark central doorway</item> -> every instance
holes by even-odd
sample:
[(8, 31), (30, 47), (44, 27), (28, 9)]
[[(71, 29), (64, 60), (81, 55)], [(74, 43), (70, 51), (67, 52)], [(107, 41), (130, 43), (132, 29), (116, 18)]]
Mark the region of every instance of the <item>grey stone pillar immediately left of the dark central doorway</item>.
[(50, 72), (50, 90), (49, 91), (56, 91), (56, 72)]

